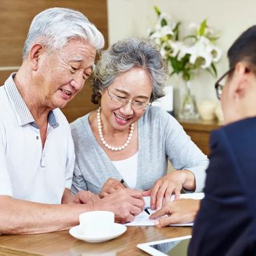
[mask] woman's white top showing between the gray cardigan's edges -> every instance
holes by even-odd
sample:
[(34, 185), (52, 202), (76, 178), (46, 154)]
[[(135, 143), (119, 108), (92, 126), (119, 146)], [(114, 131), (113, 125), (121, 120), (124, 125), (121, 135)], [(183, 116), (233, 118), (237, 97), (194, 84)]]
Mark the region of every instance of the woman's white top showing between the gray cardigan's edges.
[(123, 180), (130, 187), (130, 189), (135, 189), (137, 182), (137, 152), (128, 159), (123, 159), (120, 161), (112, 161), (116, 170), (119, 171)]

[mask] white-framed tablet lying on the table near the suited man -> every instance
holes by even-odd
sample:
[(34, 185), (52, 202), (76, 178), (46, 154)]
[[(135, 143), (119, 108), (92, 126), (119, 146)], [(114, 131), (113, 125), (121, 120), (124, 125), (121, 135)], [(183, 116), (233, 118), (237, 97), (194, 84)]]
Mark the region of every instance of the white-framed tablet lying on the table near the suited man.
[(149, 243), (140, 243), (137, 248), (153, 256), (187, 256), (190, 238), (191, 236), (179, 236)]

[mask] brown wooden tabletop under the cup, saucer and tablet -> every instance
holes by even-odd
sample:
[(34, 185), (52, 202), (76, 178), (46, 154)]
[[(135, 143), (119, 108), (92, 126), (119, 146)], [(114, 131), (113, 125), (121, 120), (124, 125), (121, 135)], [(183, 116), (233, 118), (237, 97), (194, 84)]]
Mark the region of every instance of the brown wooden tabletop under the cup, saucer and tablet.
[(146, 243), (191, 234), (191, 227), (128, 227), (126, 233), (104, 243), (86, 243), (59, 231), (37, 235), (0, 235), (0, 255), (117, 256), (147, 255), (136, 247)]

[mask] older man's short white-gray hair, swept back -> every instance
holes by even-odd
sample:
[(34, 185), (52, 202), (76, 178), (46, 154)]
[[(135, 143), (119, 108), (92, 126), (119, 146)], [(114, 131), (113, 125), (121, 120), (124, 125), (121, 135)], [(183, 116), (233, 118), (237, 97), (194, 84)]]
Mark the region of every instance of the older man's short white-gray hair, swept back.
[(27, 58), (35, 42), (42, 43), (49, 50), (59, 50), (70, 39), (88, 41), (97, 50), (105, 45), (103, 35), (83, 13), (70, 8), (48, 8), (32, 20), (22, 58)]

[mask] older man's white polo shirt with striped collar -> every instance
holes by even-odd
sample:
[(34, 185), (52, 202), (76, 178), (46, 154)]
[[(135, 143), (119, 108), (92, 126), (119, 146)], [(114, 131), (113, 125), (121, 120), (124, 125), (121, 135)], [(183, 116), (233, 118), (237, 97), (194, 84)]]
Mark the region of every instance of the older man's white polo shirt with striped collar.
[(48, 116), (44, 147), (39, 128), (12, 74), (0, 87), (0, 194), (39, 203), (61, 203), (74, 170), (74, 143), (60, 109)]

